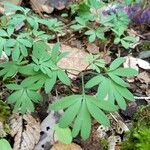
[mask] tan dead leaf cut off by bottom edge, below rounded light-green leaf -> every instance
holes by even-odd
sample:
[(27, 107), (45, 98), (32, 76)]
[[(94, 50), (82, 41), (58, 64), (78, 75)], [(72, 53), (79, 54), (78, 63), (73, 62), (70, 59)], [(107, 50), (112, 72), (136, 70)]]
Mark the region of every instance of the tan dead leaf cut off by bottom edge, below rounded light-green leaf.
[(75, 144), (62, 144), (62, 143), (56, 143), (50, 150), (82, 150), (82, 148)]

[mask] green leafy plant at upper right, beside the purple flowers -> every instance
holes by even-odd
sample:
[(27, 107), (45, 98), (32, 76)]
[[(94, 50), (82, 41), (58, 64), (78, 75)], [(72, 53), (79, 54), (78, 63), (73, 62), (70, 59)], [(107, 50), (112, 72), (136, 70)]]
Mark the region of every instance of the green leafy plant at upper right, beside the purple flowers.
[[(133, 2), (133, 1), (132, 1)], [(131, 1), (126, 1), (129, 5)], [(104, 15), (99, 9), (108, 4), (101, 0), (85, 0), (79, 5), (72, 6), (72, 12), (78, 12), (75, 17), (75, 23), (71, 25), (74, 30), (82, 30), (88, 36), (89, 42), (94, 42), (96, 39), (106, 41), (106, 33), (111, 31), (114, 35), (114, 43), (126, 48), (133, 48), (137, 37), (128, 35), (126, 30), (130, 23), (130, 19), (125, 11), (111, 12)], [(91, 10), (93, 13), (91, 13)], [(96, 22), (96, 23), (95, 23)]]

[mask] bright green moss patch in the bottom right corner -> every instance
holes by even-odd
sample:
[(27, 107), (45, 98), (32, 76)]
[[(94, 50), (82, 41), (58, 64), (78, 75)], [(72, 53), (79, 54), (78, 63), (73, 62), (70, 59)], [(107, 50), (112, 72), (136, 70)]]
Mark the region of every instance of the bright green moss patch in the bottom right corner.
[(138, 109), (134, 116), (133, 128), (126, 138), (122, 150), (150, 149), (150, 106)]

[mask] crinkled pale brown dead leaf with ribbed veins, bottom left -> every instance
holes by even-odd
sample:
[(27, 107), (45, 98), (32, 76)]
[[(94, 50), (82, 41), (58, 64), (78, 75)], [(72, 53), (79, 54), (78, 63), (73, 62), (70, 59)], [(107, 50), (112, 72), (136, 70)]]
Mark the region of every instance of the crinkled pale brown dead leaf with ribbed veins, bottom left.
[(12, 114), (10, 117), (11, 136), (14, 150), (33, 150), (40, 138), (40, 123), (31, 115)]

